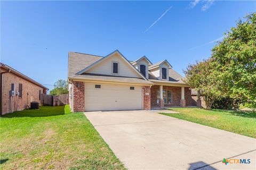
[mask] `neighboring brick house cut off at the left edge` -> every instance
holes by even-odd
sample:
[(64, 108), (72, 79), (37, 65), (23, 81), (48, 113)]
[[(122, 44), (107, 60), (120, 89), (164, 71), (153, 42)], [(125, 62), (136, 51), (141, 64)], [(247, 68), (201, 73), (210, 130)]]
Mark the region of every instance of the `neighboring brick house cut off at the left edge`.
[(1, 115), (30, 107), (31, 101), (40, 101), (39, 94), (46, 94), (46, 90), (49, 90), (12, 67), (0, 64)]

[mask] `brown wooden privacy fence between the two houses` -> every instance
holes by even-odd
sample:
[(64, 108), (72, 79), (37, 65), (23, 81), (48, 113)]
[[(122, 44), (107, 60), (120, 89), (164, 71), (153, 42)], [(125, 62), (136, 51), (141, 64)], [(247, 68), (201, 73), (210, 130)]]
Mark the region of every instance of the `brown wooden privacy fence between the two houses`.
[(41, 94), (40, 101), (43, 106), (63, 106), (68, 104), (68, 94), (59, 96)]

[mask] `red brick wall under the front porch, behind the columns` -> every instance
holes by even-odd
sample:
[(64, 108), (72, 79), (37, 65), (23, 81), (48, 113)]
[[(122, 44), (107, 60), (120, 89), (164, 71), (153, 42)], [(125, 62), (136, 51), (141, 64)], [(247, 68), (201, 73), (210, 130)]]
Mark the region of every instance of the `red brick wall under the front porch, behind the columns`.
[[(157, 91), (159, 90), (158, 85), (151, 87), (151, 107), (160, 107), (160, 100), (157, 104)], [(181, 87), (174, 86), (163, 86), (163, 90), (171, 91), (171, 104), (164, 104), (164, 106), (180, 106), (181, 100)], [(186, 106), (191, 106), (191, 90), (185, 87), (185, 100)]]

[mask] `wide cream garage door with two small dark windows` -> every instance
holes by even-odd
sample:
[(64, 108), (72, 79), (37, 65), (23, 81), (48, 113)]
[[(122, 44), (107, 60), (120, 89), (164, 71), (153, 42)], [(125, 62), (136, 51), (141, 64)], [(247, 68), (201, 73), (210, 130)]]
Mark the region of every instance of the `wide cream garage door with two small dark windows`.
[[(96, 88), (100, 85), (100, 88)], [(134, 90), (130, 88), (134, 87)], [(142, 86), (85, 83), (85, 111), (142, 109)]]

